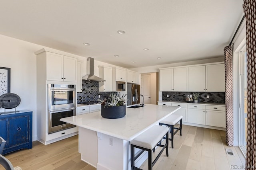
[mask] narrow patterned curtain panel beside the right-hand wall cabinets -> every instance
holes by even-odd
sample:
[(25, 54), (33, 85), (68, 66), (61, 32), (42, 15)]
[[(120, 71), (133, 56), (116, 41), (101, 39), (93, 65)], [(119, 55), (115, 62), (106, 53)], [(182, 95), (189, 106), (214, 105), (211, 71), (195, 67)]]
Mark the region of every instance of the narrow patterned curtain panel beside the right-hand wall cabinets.
[(225, 55), (225, 82), (226, 82), (226, 143), (233, 146), (233, 56), (231, 45), (224, 48)]

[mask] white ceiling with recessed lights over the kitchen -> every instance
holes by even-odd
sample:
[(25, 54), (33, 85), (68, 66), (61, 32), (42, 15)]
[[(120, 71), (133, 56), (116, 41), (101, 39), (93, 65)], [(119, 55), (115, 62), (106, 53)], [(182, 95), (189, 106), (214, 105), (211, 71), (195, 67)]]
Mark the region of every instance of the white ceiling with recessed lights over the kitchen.
[(0, 34), (125, 68), (208, 59), (224, 55), (242, 19), (242, 3), (0, 0)]

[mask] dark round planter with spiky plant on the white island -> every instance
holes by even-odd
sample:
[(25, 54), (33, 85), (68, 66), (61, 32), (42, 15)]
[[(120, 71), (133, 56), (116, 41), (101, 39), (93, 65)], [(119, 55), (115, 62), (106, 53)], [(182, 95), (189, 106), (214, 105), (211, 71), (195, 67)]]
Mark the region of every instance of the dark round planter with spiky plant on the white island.
[(126, 114), (126, 95), (110, 94), (106, 99), (99, 100), (101, 104), (101, 115), (104, 118), (116, 119)]

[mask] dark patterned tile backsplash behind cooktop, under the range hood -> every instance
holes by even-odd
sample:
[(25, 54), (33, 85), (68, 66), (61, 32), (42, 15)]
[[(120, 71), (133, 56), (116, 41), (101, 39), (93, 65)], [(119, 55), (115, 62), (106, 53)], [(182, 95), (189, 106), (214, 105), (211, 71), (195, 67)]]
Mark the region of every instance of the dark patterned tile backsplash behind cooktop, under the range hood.
[(77, 92), (76, 102), (80, 104), (82, 102), (98, 101), (99, 95), (100, 99), (104, 99), (111, 93), (116, 92), (99, 92), (98, 81), (82, 80), (82, 92)]

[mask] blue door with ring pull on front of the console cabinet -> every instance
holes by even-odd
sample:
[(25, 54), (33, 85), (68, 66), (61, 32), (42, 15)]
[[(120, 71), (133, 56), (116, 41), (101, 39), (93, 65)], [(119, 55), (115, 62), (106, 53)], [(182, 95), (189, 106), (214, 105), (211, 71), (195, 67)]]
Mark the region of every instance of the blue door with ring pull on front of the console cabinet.
[(9, 119), (10, 122), (10, 139), (9, 147), (29, 142), (28, 125), (29, 117), (13, 117)]

